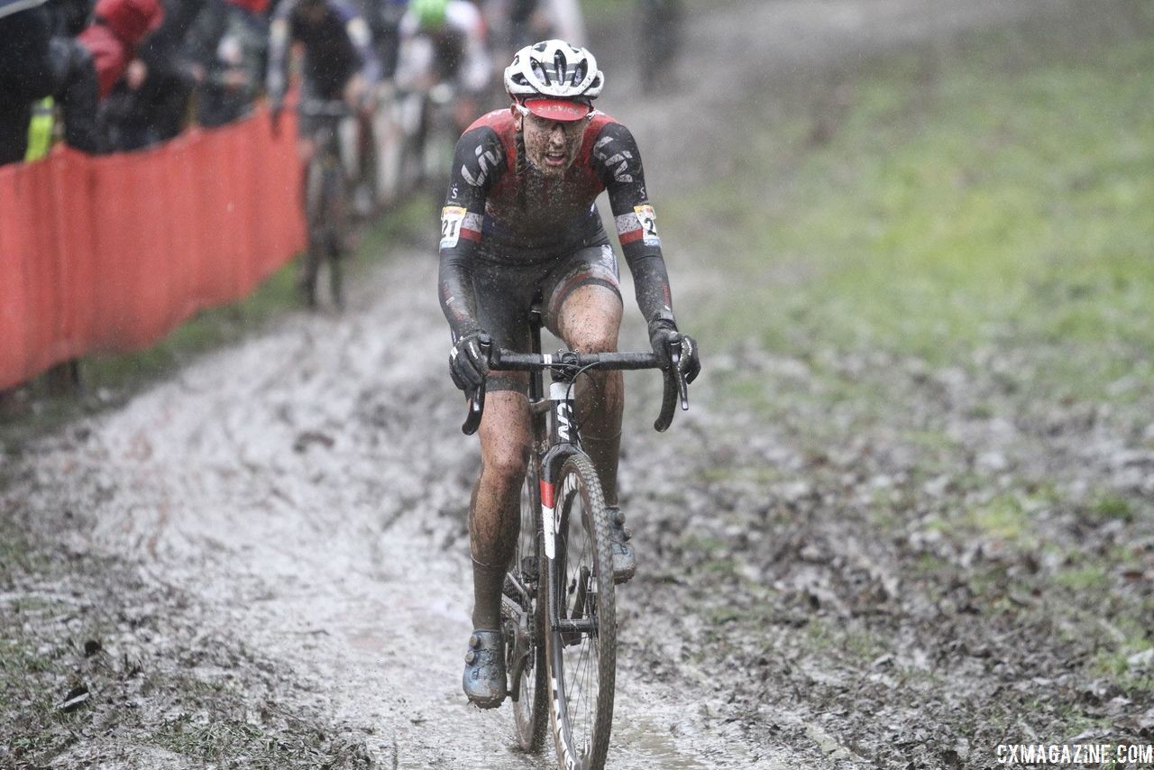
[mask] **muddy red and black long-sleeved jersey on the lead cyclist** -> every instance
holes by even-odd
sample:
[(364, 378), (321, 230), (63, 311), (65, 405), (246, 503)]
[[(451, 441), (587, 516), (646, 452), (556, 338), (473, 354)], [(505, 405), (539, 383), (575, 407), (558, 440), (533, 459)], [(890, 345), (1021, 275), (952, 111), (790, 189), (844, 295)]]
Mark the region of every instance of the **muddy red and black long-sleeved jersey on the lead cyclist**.
[(609, 194), (643, 315), (646, 321), (672, 317), (657, 219), (629, 129), (594, 112), (577, 157), (560, 179), (538, 171), (517, 145), (511, 110), (484, 115), (457, 142), (441, 214), (441, 302), (454, 331), (478, 328), (473, 260), (541, 262), (604, 241), (605, 229), (593, 204), (602, 190)]

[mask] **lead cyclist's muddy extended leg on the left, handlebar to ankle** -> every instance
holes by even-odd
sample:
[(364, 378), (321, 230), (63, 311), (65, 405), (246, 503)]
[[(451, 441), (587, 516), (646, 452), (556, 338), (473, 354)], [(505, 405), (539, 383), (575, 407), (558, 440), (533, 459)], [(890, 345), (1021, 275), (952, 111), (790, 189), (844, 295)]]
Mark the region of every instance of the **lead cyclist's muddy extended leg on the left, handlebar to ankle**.
[(520, 526), (520, 487), (529, 463), (529, 401), (496, 390), (486, 396), (481, 476), (473, 485), (469, 537), (473, 555), (473, 628), (500, 628), (501, 586)]

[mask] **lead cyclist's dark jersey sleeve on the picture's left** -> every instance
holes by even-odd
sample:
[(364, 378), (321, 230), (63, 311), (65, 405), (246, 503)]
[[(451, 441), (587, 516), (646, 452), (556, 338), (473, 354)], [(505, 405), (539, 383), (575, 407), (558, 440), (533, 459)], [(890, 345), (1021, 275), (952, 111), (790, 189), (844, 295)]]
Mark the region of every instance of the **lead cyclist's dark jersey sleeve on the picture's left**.
[(466, 130), (457, 140), (452, 174), (441, 209), (441, 309), (456, 337), (480, 331), (472, 261), (481, 240), (485, 196), (507, 166), (504, 148), (488, 126)]

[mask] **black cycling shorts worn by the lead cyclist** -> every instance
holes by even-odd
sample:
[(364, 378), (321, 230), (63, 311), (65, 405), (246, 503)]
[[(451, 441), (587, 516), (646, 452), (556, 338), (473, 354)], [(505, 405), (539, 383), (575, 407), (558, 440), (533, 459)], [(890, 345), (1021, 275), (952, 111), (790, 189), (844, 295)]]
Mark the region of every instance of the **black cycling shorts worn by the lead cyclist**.
[[(537, 254), (539, 252), (525, 252), (517, 256)], [(494, 256), (502, 261), (493, 261)], [(579, 247), (560, 259), (515, 260), (509, 249), (495, 253), (494, 247), (481, 241), (472, 266), (478, 320), (500, 347), (530, 351), (529, 311), (534, 300), (541, 302), (545, 328), (560, 337), (557, 321), (561, 306), (575, 289), (590, 284), (606, 286), (621, 299), (617, 257), (608, 241)], [(485, 388), (489, 391), (527, 393), (529, 375), (524, 372), (494, 372), (489, 374)]]

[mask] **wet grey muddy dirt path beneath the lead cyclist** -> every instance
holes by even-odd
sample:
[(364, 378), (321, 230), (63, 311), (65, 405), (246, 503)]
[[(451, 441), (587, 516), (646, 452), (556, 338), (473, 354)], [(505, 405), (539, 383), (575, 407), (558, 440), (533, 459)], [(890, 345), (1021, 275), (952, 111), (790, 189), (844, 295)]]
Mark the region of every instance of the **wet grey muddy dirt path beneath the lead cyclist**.
[[(605, 106), (639, 135), (660, 205), (662, 194), (707, 180), (709, 158), (734, 141), (724, 118), (697, 119), (703, 112), (740, 109), (744, 95), (756, 98), (784, 73), (1043, 5), (724, 3), (690, 25), (682, 72), (691, 88), (629, 104), (632, 76), (612, 77), (620, 85)], [(744, 62), (736, 75), (732, 55), (715, 55), (734, 50)], [(621, 55), (605, 59), (613, 66)], [(705, 157), (687, 163), (706, 135)], [(300, 687), (286, 697), (359, 728), (385, 765), (547, 767), (548, 754), (509, 748), (508, 709), (479, 712), (460, 693), (471, 604), (465, 506), (477, 450), (459, 433), (462, 404), (444, 372), (429, 242), (362, 275), (343, 316), (292, 314), (92, 420), (83, 439), (45, 442), (28, 461), (43, 485), (28, 493), (29, 508), (45, 521), (65, 508), (84, 511), (91, 528), (75, 536), (76, 547), (137, 562), (157, 585), (196, 596), (210, 608), (196, 623), (291, 667)], [(719, 299), (692, 254), (674, 251), (670, 262), (684, 317)], [(640, 342), (638, 327), (631, 319), (627, 339)], [(627, 429), (637, 438), (623, 480), (643, 517), (659, 504), (642, 495), (647, 453), (664, 447), (662, 462), (691, 465), (713, 418), (706, 383), (689, 419), (668, 438), (650, 436), (655, 389), (631, 382), (639, 395)], [(672, 573), (652, 544), (638, 547), (643, 571)], [(613, 767), (849, 767), (837, 747), (817, 760), (788, 740), (770, 745), (756, 724), (765, 715), (729, 717), (725, 703), (703, 696), (709, 666), (675, 637), (673, 619), (684, 610), (660, 604), (680, 595), (647, 597), (650, 585), (637, 581), (619, 599)], [(807, 713), (778, 704), (773, 720), (812, 747), (823, 733), (804, 727)]]

